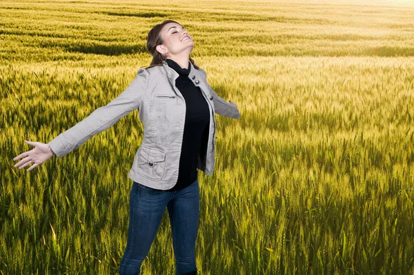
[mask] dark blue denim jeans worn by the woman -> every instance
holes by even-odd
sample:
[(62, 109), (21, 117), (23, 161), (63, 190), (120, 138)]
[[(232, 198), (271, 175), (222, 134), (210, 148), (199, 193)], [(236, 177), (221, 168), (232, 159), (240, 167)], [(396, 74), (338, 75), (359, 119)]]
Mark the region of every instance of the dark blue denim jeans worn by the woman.
[(199, 223), (198, 179), (174, 192), (152, 189), (134, 181), (130, 191), (128, 241), (119, 274), (139, 274), (166, 207), (172, 230), (176, 274), (197, 270), (195, 239)]

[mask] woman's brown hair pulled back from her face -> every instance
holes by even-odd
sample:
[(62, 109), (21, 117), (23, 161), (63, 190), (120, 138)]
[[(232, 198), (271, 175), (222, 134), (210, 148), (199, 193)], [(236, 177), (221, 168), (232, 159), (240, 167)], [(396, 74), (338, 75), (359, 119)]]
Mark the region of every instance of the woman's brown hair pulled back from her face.
[[(154, 28), (150, 30), (150, 32), (148, 32), (147, 50), (152, 55), (152, 61), (150, 63), (150, 66), (147, 67), (146, 69), (149, 69), (155, 66), (160, 66), (166, 60), (166, 57), (160, 54), (156, 49), (157, 45), (161, 45), (162, 43), (164, 43), (164, 41), (161, 38), (160, 32), (162, 28), (164, 27), (164, 25), (166, 25), (166, 23), (177, 23), (181, 25), (180, 23), (174, 20), (165, 20), (164, 22), (157, 24)], [(191, 57), (189, 60), (193, 64), (194, 68), (198, 70), (199, 66), (195, 64), (195, 61)]]

